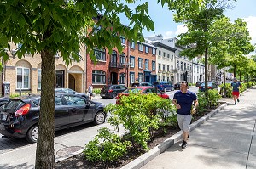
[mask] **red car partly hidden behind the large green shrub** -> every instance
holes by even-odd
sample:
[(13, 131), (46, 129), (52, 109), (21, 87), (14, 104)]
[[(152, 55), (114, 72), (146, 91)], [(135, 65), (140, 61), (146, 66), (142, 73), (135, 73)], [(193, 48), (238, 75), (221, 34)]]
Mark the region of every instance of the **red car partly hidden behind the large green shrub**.
[(119, 95), (116, 98), (116, 104), (119, 104), (119, 99), (122, 96), (129, 96), (130, 93), (142, 93), (142, 94), (157, 93), (157, 95), (160, 96), (161, 98), (169, 99), (169, 95), (161, 92), (157, 87), (132, 87), (132, 88), (126, 89), (123, 93), (119, 93)]

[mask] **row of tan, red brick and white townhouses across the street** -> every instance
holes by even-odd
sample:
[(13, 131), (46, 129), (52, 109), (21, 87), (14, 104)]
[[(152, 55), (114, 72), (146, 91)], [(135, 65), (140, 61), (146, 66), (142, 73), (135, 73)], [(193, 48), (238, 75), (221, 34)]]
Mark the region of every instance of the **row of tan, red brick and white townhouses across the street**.
[[(174, 84), (181, 81), (204, 81), (204, 65), (181, 56), (179, 53), (184, 47), (176, 45), (177, 38), (160, 38), (129, 42), (121, 37), (124, 47), (121, 53), (117, 48), (113, 48), (112, 54), (105, 48), (94, 49), (98, 60), (96, 64), (85, 53), (86, 47), (83, 45), (79, 51), (80, 61), (73, 61), (71, 65), (65, 65), (63, 59), (56, 54), (55, 87), (67, 87), (84, 93), (90, 83), (94, 88), (102, 88), (107, 84), (130, 87), (133, 82), (168, 81)], [(11, 46), (12, 50), (16, 48), (15, 45)], [(10, 59), (2, 64), (1, 82), (9, 83), (9, 93), (40, 93), (39, 54), (26, 54), (22, 59), (10, 54)], [(2, 95), (6, 93), (4, 91), (5, 88), (2, 89)]]

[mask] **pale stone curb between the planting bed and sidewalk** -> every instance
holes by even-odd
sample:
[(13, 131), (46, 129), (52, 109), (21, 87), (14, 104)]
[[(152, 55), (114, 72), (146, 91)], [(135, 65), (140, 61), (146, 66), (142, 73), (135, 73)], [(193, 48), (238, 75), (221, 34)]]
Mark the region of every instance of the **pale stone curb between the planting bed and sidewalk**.
[[(212, 110), (207, 115), (201, 117), (197, 121), (193, 122), (189, 127), (190, 131), (193, 131), (196, 127), (200, 127), (201, 124), (203, 124), (205, 121), (209, 120), (212, 116), (216, 115), (220, 110), (224, 110), (224, 107), (227, 106), (227, 104), (222, 104), (219, 106), (216, 110)], [(183, 132), (177, 132), (172, 137), (167, 138), (163, 143), (158, 145), (157, 147), (154, 147), (154, 149), (150, 149), (147, 153), (137, 157), (134, 161), (131, 161), (127, 165), (121, 167), (121, 169), (139, 169), (146, 165), (149, 161), (154, 159), (157, 155), (160, 155), (162, 152), (164, 152), (166, 149), (171, 147), (173, 144), (176, 144), (178, 140), (180, 140), (183, 137)]]

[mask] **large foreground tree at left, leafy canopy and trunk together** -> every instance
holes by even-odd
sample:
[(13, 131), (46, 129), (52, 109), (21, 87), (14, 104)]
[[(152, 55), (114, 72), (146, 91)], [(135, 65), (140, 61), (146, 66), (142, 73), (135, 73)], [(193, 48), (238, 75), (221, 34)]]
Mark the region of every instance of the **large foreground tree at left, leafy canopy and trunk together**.
[[(10, 43), (22, 44), (16, 55), (40, 54), (42, 86), (36, 168), (54, 168), (55, 54), (69, 65), (79, 61), (78, 51), (86, 46), (122, 50), (120, 36), (143, 41), (142, 30), (154, 30), (148, 2), (129, 8), (135, 0), (4, 0), (0, 2), (0, 55), (9, 59)], [(129, 25), (123, 25), (125, 14)]]

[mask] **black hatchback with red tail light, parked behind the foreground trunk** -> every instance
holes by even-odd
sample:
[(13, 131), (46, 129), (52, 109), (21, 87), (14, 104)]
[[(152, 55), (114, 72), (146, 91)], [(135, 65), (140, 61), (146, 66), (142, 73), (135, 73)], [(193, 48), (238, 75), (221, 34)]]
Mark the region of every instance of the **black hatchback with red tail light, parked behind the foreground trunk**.
[[(33, 95), (10, 99), (4, 104), (0, 111), (0, 133), (37, 142), (40, 99)], [(79, 95), (55, 93), (55, 131), (92, 121), (102, 124), (107, 116), (104, 107)]]

